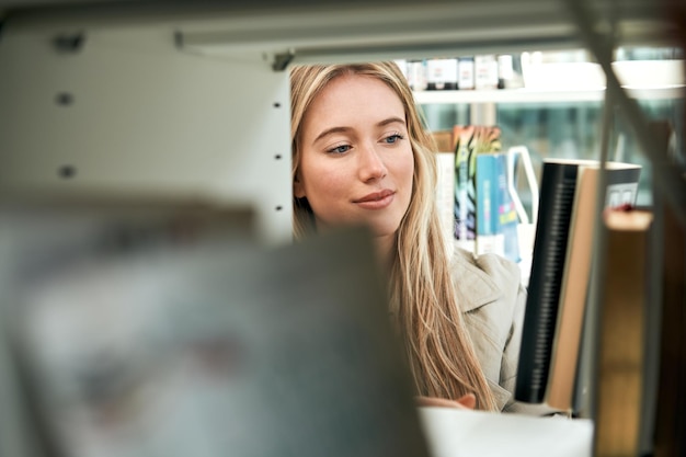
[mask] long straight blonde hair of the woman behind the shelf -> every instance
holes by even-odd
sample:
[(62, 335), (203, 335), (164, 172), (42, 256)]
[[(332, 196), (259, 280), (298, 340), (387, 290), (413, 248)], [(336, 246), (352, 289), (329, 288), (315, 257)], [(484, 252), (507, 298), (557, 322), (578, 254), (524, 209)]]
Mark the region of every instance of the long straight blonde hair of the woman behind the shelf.
[[(435, 205), (436, 159), (412, 91), (395, 62), (301, 66), (290, 71), (291, 175), (300, 162), (300, 125), (312, 101), (333, 79), (362, 75), (385, 82), (405, 111), (414, 156), (412, 198), (396, 233), (390, 270), (391, 315), (402, 331), (418, 395), (456, 400), (472, 392), (477, 408), (496, 410), (495, 400), (462, 323), (450, 275), (446, 240)], [(306, 198), (294, 198), (296, 239), (313, 230)]]

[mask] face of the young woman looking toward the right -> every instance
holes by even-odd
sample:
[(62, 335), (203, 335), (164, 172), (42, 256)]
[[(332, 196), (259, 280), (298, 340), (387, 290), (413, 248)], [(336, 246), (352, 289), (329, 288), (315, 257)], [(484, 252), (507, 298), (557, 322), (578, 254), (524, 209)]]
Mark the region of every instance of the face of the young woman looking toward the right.
[(294, 194), (307, 197), (317, 226), (362, 222), (390, 241), (414, 171), (398, 95), (371, 77), (339, 77), (310, 105), (300, 135)]

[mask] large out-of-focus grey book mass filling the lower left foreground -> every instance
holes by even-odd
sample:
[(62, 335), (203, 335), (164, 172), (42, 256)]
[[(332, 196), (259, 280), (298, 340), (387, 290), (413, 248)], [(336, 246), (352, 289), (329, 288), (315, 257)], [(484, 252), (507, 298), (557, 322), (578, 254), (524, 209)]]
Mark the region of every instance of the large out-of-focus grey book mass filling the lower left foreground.
[[(46, 210), (2, 213), (1, 238), (43, 454), (426, 455), (366, 230), (265, 248), (221, 217), (170, 238), (164, 217)], [(49, 247), (8, 241), (22, 227)]]

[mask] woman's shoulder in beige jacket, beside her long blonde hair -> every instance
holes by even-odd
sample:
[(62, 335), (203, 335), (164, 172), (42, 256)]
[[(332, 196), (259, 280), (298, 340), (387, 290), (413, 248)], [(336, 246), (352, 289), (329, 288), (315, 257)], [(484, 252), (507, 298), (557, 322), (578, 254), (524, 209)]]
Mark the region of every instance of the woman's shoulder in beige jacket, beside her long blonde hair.
[(481, 254), (477, 258), (456, 245), (450, 269), (464, 312), (491, 302), (510, 302), (521, 292), (519, 267), (496, 254)]

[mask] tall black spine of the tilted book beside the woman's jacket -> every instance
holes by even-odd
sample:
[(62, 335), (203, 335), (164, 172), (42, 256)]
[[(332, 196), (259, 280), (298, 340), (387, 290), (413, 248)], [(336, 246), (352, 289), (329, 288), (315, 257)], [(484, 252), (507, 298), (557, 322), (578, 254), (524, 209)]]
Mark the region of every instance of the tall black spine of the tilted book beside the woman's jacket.
[(579, 165), (545, 162), (515, 399), (545, 399)]

